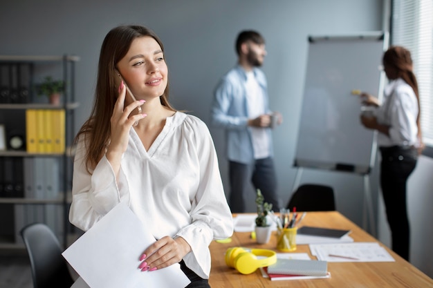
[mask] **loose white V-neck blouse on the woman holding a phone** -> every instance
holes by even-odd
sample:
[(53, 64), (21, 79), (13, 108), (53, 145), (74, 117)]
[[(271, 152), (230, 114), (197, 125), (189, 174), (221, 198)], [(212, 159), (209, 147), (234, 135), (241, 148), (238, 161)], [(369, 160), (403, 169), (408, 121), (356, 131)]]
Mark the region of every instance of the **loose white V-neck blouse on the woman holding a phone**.
[(223, 190), (212, 137), (201, 119), (176, 112), (146, 151), (131, 128), (119, 179), (107, 157), (92, 175), (84, 164), (84, 137), (73, 167), (69, 220), (87, 231), (119, 202), (127, 202), (156, 239), (181, 236), (192, 251), (183, 260), (209, 278), (209, 245), (232, 236), (232, 214)]

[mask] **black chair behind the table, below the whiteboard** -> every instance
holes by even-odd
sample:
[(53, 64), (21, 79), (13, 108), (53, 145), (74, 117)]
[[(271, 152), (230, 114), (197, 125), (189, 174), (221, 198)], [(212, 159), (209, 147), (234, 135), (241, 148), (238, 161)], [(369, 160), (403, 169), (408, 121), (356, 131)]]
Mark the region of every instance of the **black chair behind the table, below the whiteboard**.
[(293, 207), (296, 207), (296, 211), (334, 211), (333, 188), (320, 184), (302, 184), (287, 204), (287, 208), (291, 211)]

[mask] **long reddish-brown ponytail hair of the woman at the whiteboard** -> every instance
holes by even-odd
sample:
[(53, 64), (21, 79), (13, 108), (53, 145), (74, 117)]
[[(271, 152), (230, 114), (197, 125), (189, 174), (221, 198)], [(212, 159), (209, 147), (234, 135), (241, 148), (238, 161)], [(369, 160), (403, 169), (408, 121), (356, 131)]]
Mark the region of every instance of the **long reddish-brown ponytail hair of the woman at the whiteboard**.
[(397, 78), (403, 79), (409, 86), (412, 87), (418, 102), (418, 116), (416, 117), (416, 125), (418, 126), (418, 135), (421, 137), (421, 106), (419, 101), (418, 81), (414, 74), (414, 65), (410, 51), (403, 46), (390, 46), (383, 55), (383, 64), (385, 64), (397, 73)]

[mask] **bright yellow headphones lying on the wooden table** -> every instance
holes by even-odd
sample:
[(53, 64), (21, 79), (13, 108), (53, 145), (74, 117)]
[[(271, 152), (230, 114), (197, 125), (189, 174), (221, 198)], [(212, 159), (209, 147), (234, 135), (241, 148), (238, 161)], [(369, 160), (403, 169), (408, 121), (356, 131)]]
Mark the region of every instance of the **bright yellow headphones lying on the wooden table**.
[[(256, 256), (266, 258), (257, 259)], [(241, 247), (232, 247), (225, 251), (225, 264), (237, 269), (242, 274), (250, 274), (259, 267), (266, 267), (277, 262), (277, 253), (267, 249), (251, 249), (246, 251)]]

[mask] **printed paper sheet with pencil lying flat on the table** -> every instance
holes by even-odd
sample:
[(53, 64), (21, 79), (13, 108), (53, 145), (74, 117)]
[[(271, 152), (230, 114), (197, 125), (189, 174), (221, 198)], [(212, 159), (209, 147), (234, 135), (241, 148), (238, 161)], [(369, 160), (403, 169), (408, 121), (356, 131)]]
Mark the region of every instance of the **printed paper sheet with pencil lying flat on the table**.
[(378, 242), (310, 244), (311, 255), (328, 262), (394, 262)]

